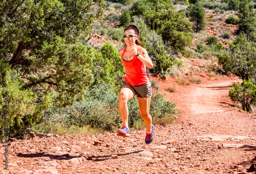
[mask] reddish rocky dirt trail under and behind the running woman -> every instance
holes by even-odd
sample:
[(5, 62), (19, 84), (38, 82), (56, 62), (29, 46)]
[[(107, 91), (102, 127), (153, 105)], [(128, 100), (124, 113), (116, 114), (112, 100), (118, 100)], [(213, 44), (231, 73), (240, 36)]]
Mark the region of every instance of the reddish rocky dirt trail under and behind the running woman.
[(0, 173), (247, 173), (256, 162), (256, 117), (232, 107), (230, 83), (160, 90), (182, 112), (178, 123), (155, 126), (150, 145), (144, 144), (145, 130), (129, 138), (62, 135), (15, 141), (9, 146), (9, 170), (2, 165)]

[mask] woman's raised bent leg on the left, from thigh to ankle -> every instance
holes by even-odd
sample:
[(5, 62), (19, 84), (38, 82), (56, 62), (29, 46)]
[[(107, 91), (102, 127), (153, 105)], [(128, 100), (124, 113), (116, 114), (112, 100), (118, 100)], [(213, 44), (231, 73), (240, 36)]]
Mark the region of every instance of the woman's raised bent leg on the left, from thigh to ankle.
[(135, 96), (135, 91), (130, 85), (123, 85), (119, 93), (119, 113), (124, 126), (128, 127), (128, 100)]

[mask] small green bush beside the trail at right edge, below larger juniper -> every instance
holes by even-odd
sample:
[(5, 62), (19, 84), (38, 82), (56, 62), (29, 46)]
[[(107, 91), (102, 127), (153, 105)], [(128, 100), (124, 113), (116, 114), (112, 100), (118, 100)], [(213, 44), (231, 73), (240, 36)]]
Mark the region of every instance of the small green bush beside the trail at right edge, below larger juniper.
[(234, 83), (229, 90), (229, 97), (232, 101), (241, 103), (243, 110), (250, 111), (250, 104), (256, 102), (256, 85), (250, 80), (244, 80), (241, 85)]

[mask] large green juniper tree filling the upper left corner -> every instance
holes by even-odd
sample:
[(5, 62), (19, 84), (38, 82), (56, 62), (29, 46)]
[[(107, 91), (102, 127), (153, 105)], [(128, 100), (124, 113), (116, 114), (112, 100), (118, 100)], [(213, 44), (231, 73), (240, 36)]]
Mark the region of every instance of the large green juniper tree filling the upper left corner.
[(93, 82), (93, 49), (76, 44), (103, 13), (103, 0), (4, 0), (0, 3), (0, 132), (10, 137), (52, 105), (82, 100)]

